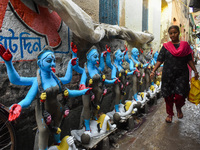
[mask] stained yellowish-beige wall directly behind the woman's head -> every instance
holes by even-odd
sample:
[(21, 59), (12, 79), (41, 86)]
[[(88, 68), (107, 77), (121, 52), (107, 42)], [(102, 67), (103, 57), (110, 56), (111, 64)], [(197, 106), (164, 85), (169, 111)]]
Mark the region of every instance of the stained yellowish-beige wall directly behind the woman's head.
[(169, 41), (168, 28), (178, 25), (180, 28), (180, 40), (189, 40), (189, 1), (162, 0), (161, 14), (161, 43)]

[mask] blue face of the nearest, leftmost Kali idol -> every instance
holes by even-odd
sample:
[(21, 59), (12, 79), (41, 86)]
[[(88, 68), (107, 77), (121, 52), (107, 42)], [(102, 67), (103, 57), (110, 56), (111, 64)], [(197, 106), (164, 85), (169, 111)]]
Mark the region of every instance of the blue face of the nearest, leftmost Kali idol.
[(46, 52), (42, 54), (38, 65), (40, 69), (50, 72), (52, 70), (51, 68), (56, 67), (55, 61), (56, 61), (55, 55), (51, 52)]

